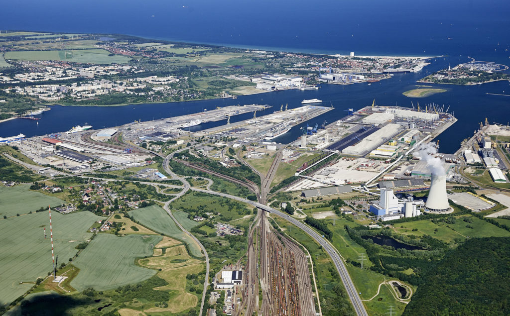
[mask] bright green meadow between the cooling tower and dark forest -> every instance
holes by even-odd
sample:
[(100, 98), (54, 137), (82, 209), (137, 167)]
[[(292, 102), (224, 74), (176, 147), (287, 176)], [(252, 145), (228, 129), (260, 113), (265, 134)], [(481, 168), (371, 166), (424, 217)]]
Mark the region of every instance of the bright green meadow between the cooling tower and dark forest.
[[(476, 218), (471, 215), (463, 215), (455, 217), (456, 221), (454, 224), (446, 224), (445, 222), (439, 222), (438, 224), (432, 223), (430, 220), (422, 220), (415, 222), (399, 223), (395, 224), (394, 231), (399, 234), (406, 235), (430, 235), (434, 238), (442, 240), (446, 243), (455, 243), (455, 239), (465, 240), (466, 238), (483, 238), (483, 237), (505, 237), (510, 236), (510, 232), (502, 228), (494, 226), (484, 220)], [(467, 223), (463, 219), (469, 218), (473, 222)], [(447, 227), (450, 226), (450, 227)], [(466, 227), (467, 225), (473, 228)], [(403, 226), (403, 228), (401, 227)], [(412, 231), (418, 229), (417, 231)], [(436, 231), (437, 229), (437, 231)]]

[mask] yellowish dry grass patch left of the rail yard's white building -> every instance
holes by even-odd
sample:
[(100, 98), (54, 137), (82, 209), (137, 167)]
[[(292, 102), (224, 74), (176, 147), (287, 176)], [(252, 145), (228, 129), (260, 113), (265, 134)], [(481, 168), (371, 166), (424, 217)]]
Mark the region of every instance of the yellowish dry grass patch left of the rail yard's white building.
[(199, 273), (203, 270), (203, 264), (200, 260), (190, 257), (184, 245), (166, 248), (163, 255), (140, 259), (138, 263), (142, 267), (162, 269), (158, 276), (169, 284), (157, 289), (173, 292), (167, 308), (153, 307), (144, 310), (145, 312), (176, 313), (197, 305), (198, 297), (186, 291), (186, 275)]

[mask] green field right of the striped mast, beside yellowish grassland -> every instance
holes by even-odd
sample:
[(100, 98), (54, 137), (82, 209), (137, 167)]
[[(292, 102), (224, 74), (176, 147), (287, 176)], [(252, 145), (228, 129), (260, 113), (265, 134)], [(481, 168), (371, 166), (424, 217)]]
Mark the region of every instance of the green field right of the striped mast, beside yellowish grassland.
[(161, 239), (159, 235), (98, 234), (74, 260), (80, 273), (70, 285), (78, 291), (87, 287), (101, 290), (150, 278), (156, 271), (136, 266), (135, 258), (151, 255)]

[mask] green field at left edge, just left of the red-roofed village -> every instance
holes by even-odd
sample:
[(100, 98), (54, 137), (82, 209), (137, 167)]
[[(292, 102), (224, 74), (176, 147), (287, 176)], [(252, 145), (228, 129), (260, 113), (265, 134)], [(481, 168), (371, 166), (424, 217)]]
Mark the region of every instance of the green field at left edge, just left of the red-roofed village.
[(30, 185), (19, 185), (10, 188), (0, 187), (0, 216), (4, 217), (6, 215), (9, 217), (16, 214), (28, 214), (30, 211), (35, 213), (41, 206), (57, 206), (64, 203), (59, 198), (29, 191), (29, 188)]

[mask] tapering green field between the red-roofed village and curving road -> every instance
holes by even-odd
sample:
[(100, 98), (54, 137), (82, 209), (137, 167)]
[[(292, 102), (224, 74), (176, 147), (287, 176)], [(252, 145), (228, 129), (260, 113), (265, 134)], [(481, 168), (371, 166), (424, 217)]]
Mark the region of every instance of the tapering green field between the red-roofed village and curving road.
[(184, 241), (188, 245), (191, 255), (195, 257), (203, 256), (200, 246), (188, 234), (179, 229), (163, 208), (157, 205), (150, 205), (132, 210), (129, 214), (135, 218), (135, 221), (156, 232), (164, 233), (172, 238)]

